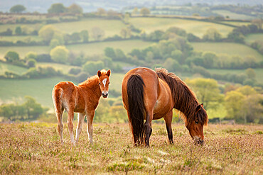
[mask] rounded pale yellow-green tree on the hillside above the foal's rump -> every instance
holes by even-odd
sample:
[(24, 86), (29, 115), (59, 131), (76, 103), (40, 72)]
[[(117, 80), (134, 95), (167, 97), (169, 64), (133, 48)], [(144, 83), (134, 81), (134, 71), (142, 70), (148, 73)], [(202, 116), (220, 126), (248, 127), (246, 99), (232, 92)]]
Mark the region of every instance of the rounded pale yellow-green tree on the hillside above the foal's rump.
[(68, 61), (69, 51), (65, 46), (57, 46), (50, 51), (51, 59), (55, 62), (65, 63)]

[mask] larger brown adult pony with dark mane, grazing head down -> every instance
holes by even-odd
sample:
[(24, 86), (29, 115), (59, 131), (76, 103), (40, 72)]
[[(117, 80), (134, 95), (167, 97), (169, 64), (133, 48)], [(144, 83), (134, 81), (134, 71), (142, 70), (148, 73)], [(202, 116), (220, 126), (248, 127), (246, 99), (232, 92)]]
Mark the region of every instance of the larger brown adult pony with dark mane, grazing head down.
[[(163, 118), (168, 139), (173, 144), (171, 122), (173, 108), (183, 113), (186, 128), (195, 144), (203, 144), (203, 125), (208, 115), (193, 92), (175, 74), (166, 69), (132, 69), (122, 81), (122, 101), (126, 108), (134, 138), (134, 145), (149, 146), (151, 120)], [(144, 123), (144, 120), (145, 123)]]

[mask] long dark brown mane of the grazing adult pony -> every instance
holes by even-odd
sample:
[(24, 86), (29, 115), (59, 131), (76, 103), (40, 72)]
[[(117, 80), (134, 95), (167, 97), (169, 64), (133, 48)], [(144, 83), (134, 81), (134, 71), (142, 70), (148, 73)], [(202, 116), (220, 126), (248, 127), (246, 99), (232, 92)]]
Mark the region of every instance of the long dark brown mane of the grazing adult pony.
[[(182, 117), (186, 121), (186, 125), (190, 124), (195, 120), (196, 107), (198, 106), (198, 100), (195, 98), (193, 91), (175, 74), (168, 72), (163, 68), (156, 68), (155, 72), (157, 76), (166, 81), (171, 89), (171, 94), (173, 96), (173, 101), (175, 103), (174, 108), (183, 113)], [(203, 115), (198, 115), (198, 120), (203, 125), (207, 125), (208, 116), (203, 108), (201, 108), (198, 113)], [(201, 116), (201, 117), (199, 117)]]

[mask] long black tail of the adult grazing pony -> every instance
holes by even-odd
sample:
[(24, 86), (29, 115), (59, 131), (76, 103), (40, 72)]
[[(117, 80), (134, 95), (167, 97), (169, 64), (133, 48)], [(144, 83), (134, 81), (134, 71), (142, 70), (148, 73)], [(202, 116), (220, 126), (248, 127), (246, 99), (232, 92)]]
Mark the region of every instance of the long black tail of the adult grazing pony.
[(132, 74), (127, 82), (128, 114), (134, 145), (144, 144), (144, 80), (139, 74)]

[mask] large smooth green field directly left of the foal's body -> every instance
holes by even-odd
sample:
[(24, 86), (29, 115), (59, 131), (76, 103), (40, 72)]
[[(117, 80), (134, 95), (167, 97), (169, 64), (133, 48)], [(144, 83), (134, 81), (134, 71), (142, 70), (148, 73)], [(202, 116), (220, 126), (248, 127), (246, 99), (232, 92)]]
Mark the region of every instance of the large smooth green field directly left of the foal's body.
[(0, 79), (0, 103), (22, 102), (24, 96), (32, 96), (43, 106), (53, 108), (51, 91), (55, 84), (66, 81), (61, 77), (47, 79)]

